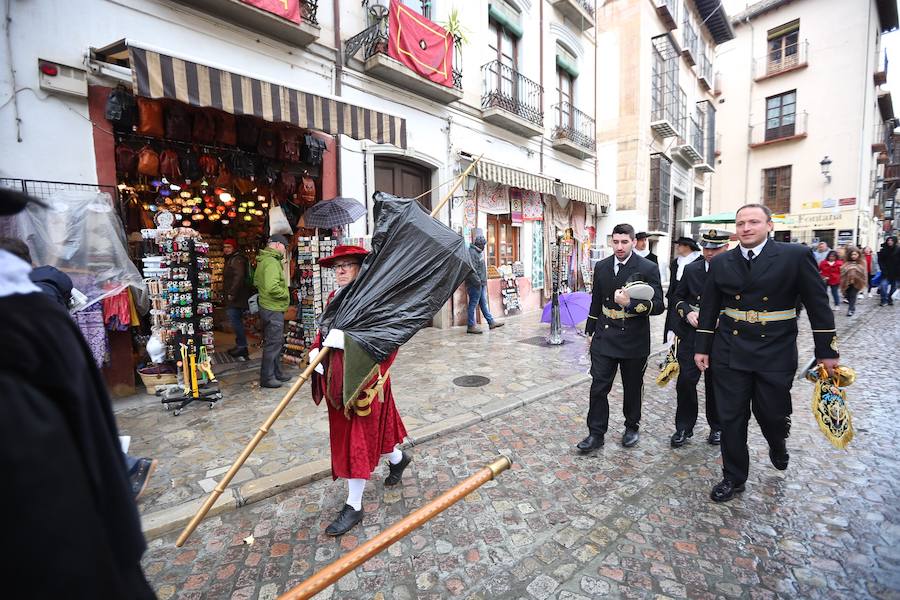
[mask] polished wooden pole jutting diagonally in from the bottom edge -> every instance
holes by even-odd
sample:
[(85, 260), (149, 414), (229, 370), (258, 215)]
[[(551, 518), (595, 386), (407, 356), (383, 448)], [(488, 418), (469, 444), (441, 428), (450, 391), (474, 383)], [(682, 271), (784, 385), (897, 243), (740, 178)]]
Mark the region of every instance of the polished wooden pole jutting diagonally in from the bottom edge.
[(413, 530), (418, 529), (488, 481), (496, 478), (497, 475), (511, 466), (512, 461), (510, 461), (509, 457), (501, 455), (500, 458), (485, 466), (465, 481), (447, 490), (414, 513), (394, 523), (365, 544), (351, 550), (297, 587), (285, 592), (279, 596), (278, 600), (312, 598), (315, 594), (321, 592), (368, 559), (399, 541)]

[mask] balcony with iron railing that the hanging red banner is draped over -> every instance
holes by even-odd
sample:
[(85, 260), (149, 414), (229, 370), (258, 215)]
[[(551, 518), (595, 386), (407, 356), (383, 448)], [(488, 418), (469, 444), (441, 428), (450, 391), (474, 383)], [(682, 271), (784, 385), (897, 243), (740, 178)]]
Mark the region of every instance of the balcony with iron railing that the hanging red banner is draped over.
[[(423, 11), (430, 7), (423, 2)], [(427, 5), (427, 6), (426, 6)], [(428, 10), (430, 13), (430, 8)], [(463, 97), (462, 91), (462, 56), (459, 40), (453, 42), (453, 86), (435, 83), (419, 75), (400, 61), (388, 55), (389, 8), (374, 4), (368, 7), (368, 27), (344, 42), (344, 62), (350, 64), (351, 59), (362, 52), (363, 71), (398, 87), (415, 92), (421, 96), (450, 104)], [(449, 43), (449, 42), (448, 42)]]

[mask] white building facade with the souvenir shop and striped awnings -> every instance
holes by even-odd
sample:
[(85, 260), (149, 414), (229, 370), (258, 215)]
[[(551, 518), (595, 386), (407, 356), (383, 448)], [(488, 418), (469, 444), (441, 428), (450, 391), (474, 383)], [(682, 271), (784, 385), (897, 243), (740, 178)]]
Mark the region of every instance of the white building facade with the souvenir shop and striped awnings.
[[(282, 5), (285, 14), (272, 12)], [(448, 182), (481, 156), (474, 177), (438, 218), (467, 239), (483, 230), (491, 266), (517, 265), (523, 308), (543, 301), (546, 252), (539, 246), (555, 235), (542, 220), (522, 218), (523, 195), (556, 206), (561, 226), (575, 215), (576, 234), (584, 238), (608, 210), (600, 183), (609, 177), (596, 158), (593, 2), (40, 0), (8, 6), (11, 43), (0, 51), (0, 62), (10, 67), (0, 76), (9, 98), (0, 107), (0, 178), (114, 187), (117, 141), (103, 109), (119, 85), (319, 132), (328, 144), (319, 195), (355, 197), (369, 210), (349, 227), (351, 237), (371, 231), (374, 191), (419, 197), (432, 208), (450, 191)], [(426, 30), (441, 24), (454, 34), (452, 74), (446, 74), (452, 85), (388, 55), (392, 13), (400, 11), (407, 22)], [(502, 314), (499, 283), (490, 289), (492, 307)], [(464, 320), (462, 296), (436, 325)]]

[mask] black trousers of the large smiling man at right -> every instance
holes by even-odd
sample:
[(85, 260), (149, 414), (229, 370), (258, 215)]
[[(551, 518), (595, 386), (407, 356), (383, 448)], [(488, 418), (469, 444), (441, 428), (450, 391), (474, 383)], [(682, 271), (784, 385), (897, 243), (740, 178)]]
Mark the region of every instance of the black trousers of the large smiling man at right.
[(722, 472), (725, 478), (741, 484), (750, 472), (750, 410), (769, 446), (782, 447), (791, 430), (795, 371), (739, 371), (721, 364), (711, 370), (722, 425)]

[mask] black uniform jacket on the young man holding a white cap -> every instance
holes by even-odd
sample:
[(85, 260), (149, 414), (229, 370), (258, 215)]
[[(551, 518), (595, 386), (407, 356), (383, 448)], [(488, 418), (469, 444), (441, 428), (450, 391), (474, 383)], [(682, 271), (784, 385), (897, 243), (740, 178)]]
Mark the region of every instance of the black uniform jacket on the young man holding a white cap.
[[(659, 267), (635, 253), (614, 275), (615, 255), (604, 258), (594, 266), (594, 291), (591, 312), (585, 333), (593, 335), (591, 351), (612, 358), (641, 358), (650, 355), (650, 315), (665, 309)], [(653, 287), (652, 300), (632, 300), (625, 312), (633, 317), (615, 319), (603, 314), (603, 308), (621, 311), (616, 304), (616, 290), (626, 283), (643, 281)]]

